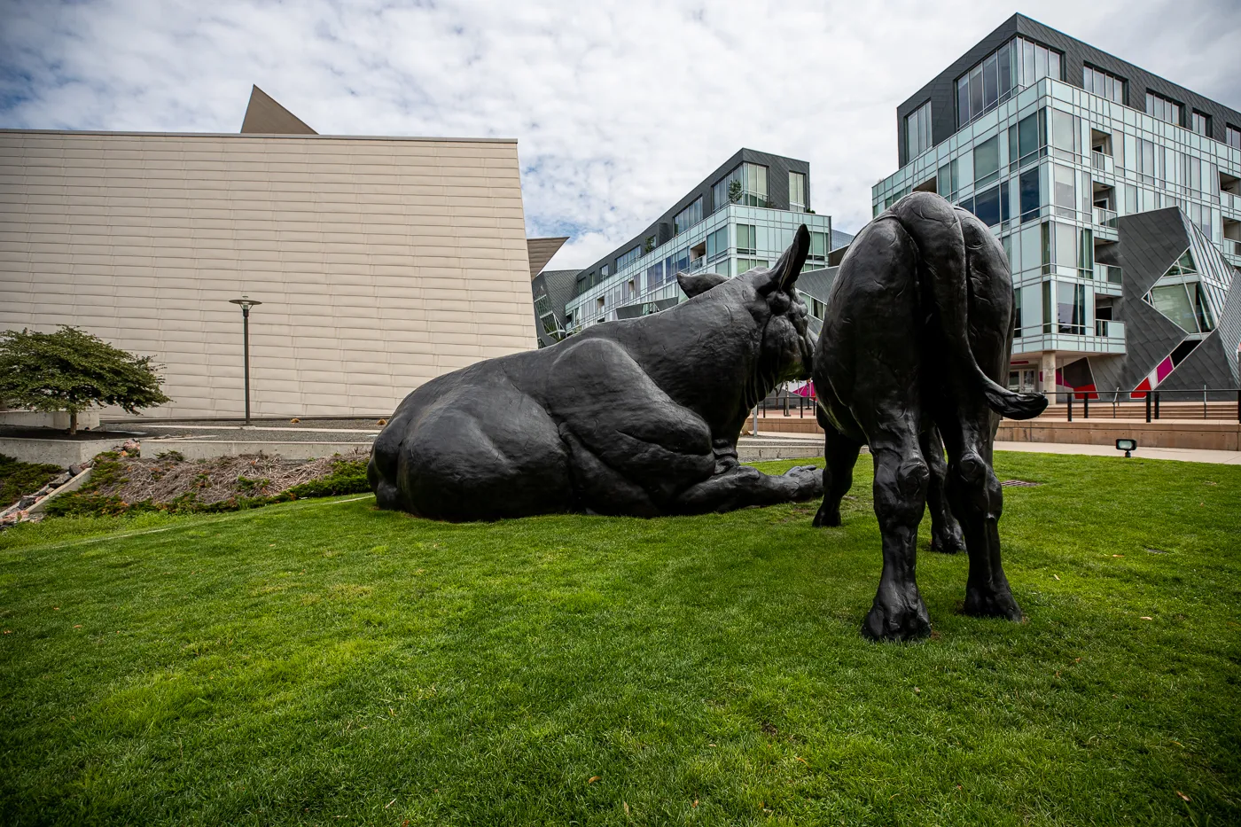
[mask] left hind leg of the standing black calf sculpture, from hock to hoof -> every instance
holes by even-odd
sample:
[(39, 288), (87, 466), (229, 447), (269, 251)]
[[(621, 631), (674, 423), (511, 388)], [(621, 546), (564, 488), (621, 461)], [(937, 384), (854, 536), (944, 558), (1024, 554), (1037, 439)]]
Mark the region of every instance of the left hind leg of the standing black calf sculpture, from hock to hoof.
[(884, 572), (879, 592), (861, 631), (875, 641), (906, 641), (931, 633), (918, 584), (918, 523), (926, 508), (931, 472), (918, 446), (917, 430), (907, 420), (870, 431), (875, 457), (875, 515), (884, 535)]

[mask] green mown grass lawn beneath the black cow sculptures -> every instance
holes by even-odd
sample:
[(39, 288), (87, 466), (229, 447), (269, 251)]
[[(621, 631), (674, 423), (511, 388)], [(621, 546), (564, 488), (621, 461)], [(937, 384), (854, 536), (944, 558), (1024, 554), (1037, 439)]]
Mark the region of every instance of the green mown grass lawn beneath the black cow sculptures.
[(965, 558), (925, 553), (907, 646), (859, 635), (865, 456), (839, 529), (344, 497), (6, 531), (0, 822), (1241, 822), (1241, 467), (997, 471), (1042, 483), (1000, 523), (1028, 620), (958, 615)]

